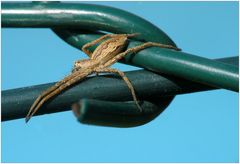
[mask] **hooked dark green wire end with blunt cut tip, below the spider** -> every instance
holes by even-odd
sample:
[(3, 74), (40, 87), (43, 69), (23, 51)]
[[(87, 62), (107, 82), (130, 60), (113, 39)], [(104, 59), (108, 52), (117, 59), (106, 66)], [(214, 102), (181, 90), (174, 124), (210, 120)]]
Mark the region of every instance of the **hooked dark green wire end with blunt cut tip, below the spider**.
[(73, 105), (78, 121), (84, 124), (129, 128), (152, 121), (172, 102), (174, 97), (160, 97), (141, 103), (140, 112), (135, 102), (112, 102), (82, 99)]

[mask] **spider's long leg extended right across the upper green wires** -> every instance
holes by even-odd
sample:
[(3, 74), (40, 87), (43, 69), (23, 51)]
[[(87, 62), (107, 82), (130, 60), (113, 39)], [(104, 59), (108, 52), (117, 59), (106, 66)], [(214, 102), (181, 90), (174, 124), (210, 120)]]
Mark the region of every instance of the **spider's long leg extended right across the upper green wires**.
[(106, 62), (103, 67), (111, 66), (112, 64), (116, 63), (118, 60), (120, 60), (124, 56), (126, 56), (128, 53), (137, 53), (137, 52), (139, 52), (139, 51), (141, 51), (143, 49), (149, 48), (149, 47), (160, 47), (160, 48), (168, 48), (168, 49), (173, 49), (173, 50), (176, 50), (176, 51), (181, 51), (181, 49), (179, 49), (177, 47), (174, 47), (172, 45), (166, 45), (166, 44), (154, 43), (154, 42), (146, 42), (146, 43), (143, 43), (142, 45), (129, 48), (126, 51), (118, 54), (113, 59), (111, 59), (108, 62)]

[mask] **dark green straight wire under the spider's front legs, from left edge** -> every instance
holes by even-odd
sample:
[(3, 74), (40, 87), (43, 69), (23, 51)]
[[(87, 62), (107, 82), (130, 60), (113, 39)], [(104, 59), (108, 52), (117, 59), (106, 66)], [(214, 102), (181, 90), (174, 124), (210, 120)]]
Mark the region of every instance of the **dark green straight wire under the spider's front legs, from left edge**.
[[(218, 61), (238, 66), (238, 57), (222, 58)], [(132, 82), (140, 100), (151, 101), (156, 97), (171, 97), (216, 89), (187, 80), (162, 76), (150, 71), (130, 71), (126, 76)], [(88, 77), (80, 84), (71, 87), (48, 101), (37, 115), (70, 110), (71, 105), (81, 98), (104, 101), (131, 101), (132, 96), (126, 84), (116, 76)], [(117, 76), (118, 77), (118, 76)], [(157, 84), (157, 85), (156, 85)], [(34, 100), (54, 83), (2, 91), (2, 121), (24, 118)], [(149, 86), (148, 89), (145, 89)], [(92, 94), (94, 92), (94, 94)], [(108, 94), (106, 94), (108, 93)]]

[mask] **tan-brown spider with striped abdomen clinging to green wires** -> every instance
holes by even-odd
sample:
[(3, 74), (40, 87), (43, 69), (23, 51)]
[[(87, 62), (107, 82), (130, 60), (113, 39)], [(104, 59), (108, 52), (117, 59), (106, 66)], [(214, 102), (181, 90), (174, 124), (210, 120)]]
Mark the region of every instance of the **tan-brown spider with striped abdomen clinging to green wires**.
[[(157, 46), (174, 50), (180, 49), (171, 45), (146, 42), (142, 45), (125, 50), (126, 46), (128, 45), (128, 38), (134, 37), (136, 35), (139, 34), (106, 34), (90, 43), (85, 44), (82, 47), (82, 51), (86, 53), (90, 58), (76, 61), (74, 63), (73, 71), (70, 75), (66, 76), (64, 79), (57, 82), (54, 86), (50, 87), (41, 95), (39, 95), (39, 97), (31, 106), (25, 121), (28, 122), (30, 118), (38, 111), (38, 109), (50, 98), (60, 94), (66, 88), (81, 81), (82, 79), (93, 73), (116, 73), (120, 77), (122, 77), (128, 88), (130, 89), (133, 100), (135, 101), (137, 107), (142, 110), (141, 106), (138, 103), (134, 88), (129, 79), (125, 76), (123, 72), (109, 67), (116, 63), (118, 60), (122, 59), (128, 53), (136, 53), (148, 47)], [(108, 39), (103, 41), (106, 38)], [(94, 50), (94, 52), (88, 50), (89, 47), (101, 41), (103, 42)]]

